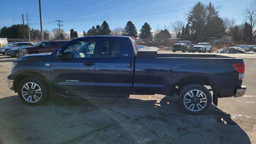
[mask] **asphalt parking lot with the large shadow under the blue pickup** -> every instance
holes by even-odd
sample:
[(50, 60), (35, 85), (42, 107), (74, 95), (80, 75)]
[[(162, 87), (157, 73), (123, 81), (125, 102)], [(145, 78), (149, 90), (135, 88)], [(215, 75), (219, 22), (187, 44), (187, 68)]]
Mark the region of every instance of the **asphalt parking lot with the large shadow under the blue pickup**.
[(6, 83), (15, 58), (0, 55), (0, 143), (256, 143), (256, 55), (225, 55), (244, 58), (246, 95), (219, 98), (200, 116), (157, 94), (27, 106)]

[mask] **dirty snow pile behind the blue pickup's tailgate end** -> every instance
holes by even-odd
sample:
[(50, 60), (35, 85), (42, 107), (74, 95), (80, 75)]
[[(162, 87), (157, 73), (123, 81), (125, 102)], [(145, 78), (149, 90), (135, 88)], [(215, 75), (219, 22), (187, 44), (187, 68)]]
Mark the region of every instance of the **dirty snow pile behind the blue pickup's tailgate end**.
[(250, 46), (247, 45), (239, 45), (232, 47), (224, 47), (220, 50), (216, 50), (216, 53), (220, 54), (256, 54), (256, 45)]

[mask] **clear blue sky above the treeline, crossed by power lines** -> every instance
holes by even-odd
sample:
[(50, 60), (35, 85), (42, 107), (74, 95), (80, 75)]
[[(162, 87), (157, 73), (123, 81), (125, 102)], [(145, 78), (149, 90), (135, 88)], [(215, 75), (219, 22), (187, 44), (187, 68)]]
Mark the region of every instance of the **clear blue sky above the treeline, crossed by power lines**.
[[(106, 20), (110, 29), (123, 27), (131, 20), (137, 30), (148, 22), (154, 30), (157, 25), (170, 26), (176, 20), (186, 23), (186, 13), (199, 0), (41, 0), (43, 29), (57, 28), (54, 20), (63, 20), (62, 28), (69, 32), (87, 31)], [(221, 6), (220, 16), (234, 17), (243, 22), (242, 11), (250, 0), (200, 0)], [(28, 12), (31, 28), (40, 29), (38, 0), (0, 0), (0, 27), (22, 24), (22, 14)], [(26, 22), (26, 21), (25, 21)]]

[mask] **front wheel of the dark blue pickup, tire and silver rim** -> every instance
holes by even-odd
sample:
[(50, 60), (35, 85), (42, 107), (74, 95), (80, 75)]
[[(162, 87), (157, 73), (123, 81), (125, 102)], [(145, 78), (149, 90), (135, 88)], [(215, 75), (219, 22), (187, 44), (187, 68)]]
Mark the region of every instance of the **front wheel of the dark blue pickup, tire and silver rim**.
[(48, 100), (46, 86), (36, 78), (25, 78), (18, 85), (20, 100), (29, 106), (39, 106)]

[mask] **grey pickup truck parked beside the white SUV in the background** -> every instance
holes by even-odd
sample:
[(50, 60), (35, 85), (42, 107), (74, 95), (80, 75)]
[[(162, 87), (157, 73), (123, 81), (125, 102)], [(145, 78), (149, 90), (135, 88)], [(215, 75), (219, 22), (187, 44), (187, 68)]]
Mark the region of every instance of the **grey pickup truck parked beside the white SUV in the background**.
[(190, 52), (192, 51), (192, 47), (193, 45), (191, 41), (179, 41), (172, 45), (172, 52), (176, 52), (178, 50), (181, 50), (182, 52)]

